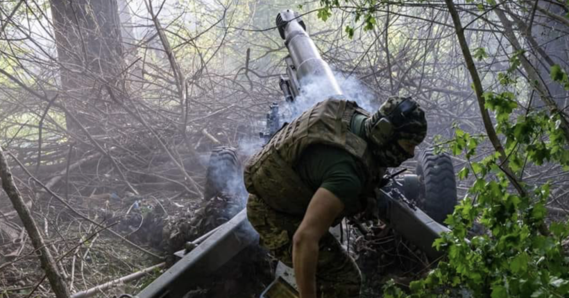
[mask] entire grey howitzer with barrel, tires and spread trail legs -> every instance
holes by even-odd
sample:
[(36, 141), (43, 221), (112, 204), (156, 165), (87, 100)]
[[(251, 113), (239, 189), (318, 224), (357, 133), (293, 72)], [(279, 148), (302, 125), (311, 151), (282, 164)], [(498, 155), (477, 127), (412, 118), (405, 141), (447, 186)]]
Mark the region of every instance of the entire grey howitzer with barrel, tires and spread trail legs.
[[(285, 101), (294, 105), (296, 98), (303, 96), (303, 86), (315, 81), (321, 84), (323, 97), (343, 97), (332, 69), (321, 58), (300, 16), (292, 10), (283, 10), (278, 14), (276, 24), (289, 50), (285, 58), (287, 74), (281, 76), (279, 82)], [(273, 103), (266, 115), (266, 128), (260, 132), (260, 137), (268, 141), (282, 125), (279, 105)], [(228, 191), (226, 183), (211, 179), (213, 174), (210, 173), (219, 171), (242, 177), (235, 149), (223, 147), (212, 152), (207, 169), (207, 195)], [(376, 189), (380, 218), (398, 234), (420, 247), (432, 260), (439, 258), (441, 253), (432, 247), (432, 243), (442, 232), (448, 231), (441, 222), (457, 204), (455, 172), (450, 157), (425, 149), (418, 155), (415, 174), (394, 176), (389, 184)], [(220, 268), (241, 249), (257, 241), (257, 237), (248, 223), (246, 211), (242, 210), (225, 224), (194, 240), (191, 251), (182, 249), (178, 252), (180, 261), (136, 297), (182, 297), (192, 286), (196, 286), (201, 277)], [(263, 295), (276, 297), (271, 295), (281, 291), (282, 285), (282, 279), (278, 278)], [(286, 290), (287, 286), (284, 288)]]

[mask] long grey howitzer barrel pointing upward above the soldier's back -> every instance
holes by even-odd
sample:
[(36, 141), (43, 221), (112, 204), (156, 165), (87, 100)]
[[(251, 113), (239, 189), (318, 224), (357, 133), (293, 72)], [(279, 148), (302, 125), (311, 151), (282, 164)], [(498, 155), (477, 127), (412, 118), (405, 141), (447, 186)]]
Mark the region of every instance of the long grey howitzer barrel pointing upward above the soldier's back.
[(294, 74), (289, 73), (289, 76), (296, 75), (300, 89), (315, 83), (328, 96), (342, 95), (332, 69), (322, 60), (298, 13), (293, 10), (283, 10), (277, 15), (276, 24), (294, 64)]

